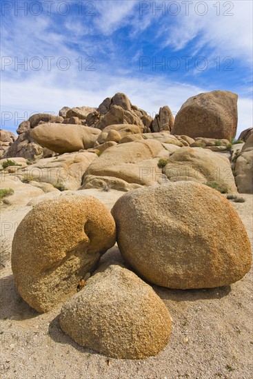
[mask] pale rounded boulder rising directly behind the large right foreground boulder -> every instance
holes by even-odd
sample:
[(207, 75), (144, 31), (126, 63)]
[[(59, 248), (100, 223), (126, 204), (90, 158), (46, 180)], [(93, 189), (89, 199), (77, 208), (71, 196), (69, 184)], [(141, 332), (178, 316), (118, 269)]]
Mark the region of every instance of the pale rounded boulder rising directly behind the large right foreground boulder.
[(175, 181), (216, 182), (236, 193), (234, 175), (228, 158), (201, 147), (181, 147), (169, 158), (163, 169), (168, 179)]

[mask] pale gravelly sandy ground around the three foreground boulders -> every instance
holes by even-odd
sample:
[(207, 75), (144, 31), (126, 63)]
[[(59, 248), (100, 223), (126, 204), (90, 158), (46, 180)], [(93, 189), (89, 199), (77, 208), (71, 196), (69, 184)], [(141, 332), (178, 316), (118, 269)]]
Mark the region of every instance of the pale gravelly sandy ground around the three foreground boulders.
[[(118, 197), (99, 196), (108, 207)], [(233, 205), (252, 243), (253, 197), (241, 196), (245, 203)], [(6, 256), (15, 228), (31, 208), (3, 207)], [(121, 261), (117, 246), (101, 259)], [(61, 305), (38, 314), (14, 289), (10, 260), (0, 274), (1, 378), (252, 378), (252, 270), (230, 287), (179, 291), (152, 286), (170, 310), (173, 329), (165, 349), (145, 360), (108, 359), (79, 347), (59, 327)]]

